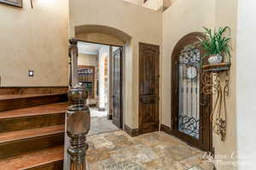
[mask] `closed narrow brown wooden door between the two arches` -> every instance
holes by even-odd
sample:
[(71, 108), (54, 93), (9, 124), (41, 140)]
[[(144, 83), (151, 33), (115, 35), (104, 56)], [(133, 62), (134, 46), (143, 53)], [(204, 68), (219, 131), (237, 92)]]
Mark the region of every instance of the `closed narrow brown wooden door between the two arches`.
[(139, 133), (149, 133), (159, 127), (159, 46), (139, 44)]

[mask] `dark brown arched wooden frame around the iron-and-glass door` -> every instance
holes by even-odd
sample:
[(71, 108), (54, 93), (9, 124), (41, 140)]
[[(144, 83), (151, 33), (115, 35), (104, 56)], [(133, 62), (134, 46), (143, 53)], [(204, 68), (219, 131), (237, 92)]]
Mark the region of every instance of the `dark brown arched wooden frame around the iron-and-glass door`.
[[(171, 122), (172, 122), (172, 134), (177, 136), (179, 139), (184, 140), (185, 142), (189, 144), (195, 145), (195, 147), (200, 148), (202, 150), (209, 150), (212, 151), (212, 122), (210, 121), (210, 117), (203, 117), (200, 111), (200, 118), (206, 119), (204, 121), (207, 121), (208, 118), (208, 123), (209, 127), (207, 127), (208, 131), (208, 136), (206, 136), (206, 133), (201, 133), (202, 130), (200, 130), (200, 139), (194, 139), (191, 136), (187, 134), (182, 134), (177, 130), (177, 115), (178, 115), (178, 80), (177, 80), (177, 56), (179, 52), (185, 47), (186, 45), (189, 45), (191, 43), (194, 43), (198, 41), (197, 37), (205, 38), (204, 34), (201, 32), (192, 32), (184, 37), (182, 37), (174, 47), (172, 51), (172, 73), (171, 73), (171, 81), (172, 81), (172, 89), (171, 89)], [(204, 54), (204, 51), (202, 49), (201, 54)], [(201, 75), (200, 75), (201, 76)], [(201, 89), (201, 88), (200, 88)], [(201, 92), (200, 92), (201, 93)], [(208, 99), (208, 104), (207, 104), (207, 115), (210, 115), (212, 111), (212, 95), (207, 96)], [(201, 101), (201, 99), (200, 99)], [(200, 107), (202, 109), (202, 106)], [(202, 127), (202, 121), (200, 122), (200, 127)], [(205, 130), (205, 129), (204, 129)], [(202, 135), (205, 135), (202, 137)], [(207, 139), (205, 139), (207, 138)]]

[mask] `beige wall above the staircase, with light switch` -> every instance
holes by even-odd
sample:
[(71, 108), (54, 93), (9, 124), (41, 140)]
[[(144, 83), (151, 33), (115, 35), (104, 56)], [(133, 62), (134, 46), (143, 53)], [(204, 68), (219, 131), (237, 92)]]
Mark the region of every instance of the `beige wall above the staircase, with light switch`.
[[(68, 1), (0, 4), (2, 86), (67, 86)], [(34, 77), (27, 77), (28, 70)]]

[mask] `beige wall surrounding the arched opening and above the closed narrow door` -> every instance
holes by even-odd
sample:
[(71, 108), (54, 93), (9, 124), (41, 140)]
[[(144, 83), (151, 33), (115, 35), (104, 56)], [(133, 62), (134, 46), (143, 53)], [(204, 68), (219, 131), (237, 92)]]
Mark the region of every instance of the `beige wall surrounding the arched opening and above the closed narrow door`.
[(125, 123), (138, 127), (138, 43), (161, 45), (162, 13), (120, 0), (76, 0), (70, 1), (70, 7), (70, 36), (75, 35), (75, 26), (96, 25), (113, 27), (131, 37), (125, 44), (124, 112)]

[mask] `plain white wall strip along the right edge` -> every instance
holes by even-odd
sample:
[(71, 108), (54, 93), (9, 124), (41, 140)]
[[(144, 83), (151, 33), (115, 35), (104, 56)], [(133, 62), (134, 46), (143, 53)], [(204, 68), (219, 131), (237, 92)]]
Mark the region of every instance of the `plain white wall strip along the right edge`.
[[(255, 169), (256, 19), (253, 0), (238, 0), (236, 47), (236, 129), (239, 170)], [(236, 155), (237, 156), (237, 155)]]

